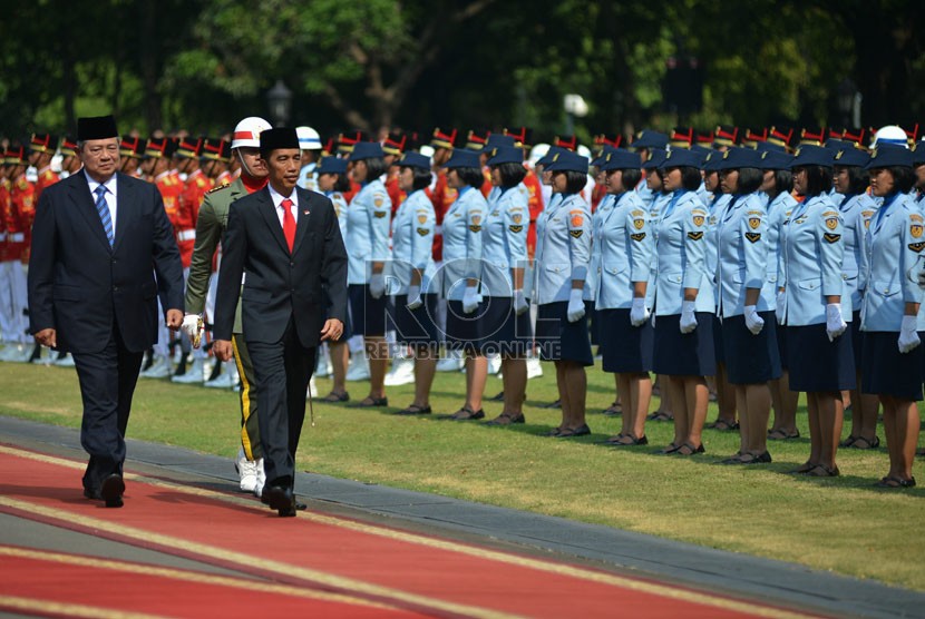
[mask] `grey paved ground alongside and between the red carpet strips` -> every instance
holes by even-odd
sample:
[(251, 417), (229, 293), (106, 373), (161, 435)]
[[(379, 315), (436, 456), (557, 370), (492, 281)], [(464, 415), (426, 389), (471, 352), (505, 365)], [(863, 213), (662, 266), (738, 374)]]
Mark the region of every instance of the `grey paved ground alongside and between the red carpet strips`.
[[(0, 443), (84, 459), (77, 431), (64, 428), (0, 417)], [(236, 482), (232, 463), (226, 459), (132, 440), (128, 443), (126, 468), (142, 474), (223, 491)], [(757, 603), (839, 617), (925, 616), (924, 593), (802, 566), (323, 475), (300, 473), (296, 490), (308, 499), (309, 509), (318, 512)], [(3, 494), (2, 484), (0, 494)], [(79, 551), (216, 574), (241, 573), (233, 568), (146, 550), (19, 515), (0, 514), (0, 543)]]

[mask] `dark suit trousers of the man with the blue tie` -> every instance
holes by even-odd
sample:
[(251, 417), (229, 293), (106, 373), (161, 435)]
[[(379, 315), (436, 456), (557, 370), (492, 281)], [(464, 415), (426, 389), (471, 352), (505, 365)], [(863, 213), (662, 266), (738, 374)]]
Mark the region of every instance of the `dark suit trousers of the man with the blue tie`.
[(84, 400), (80, 444), (90, 454), (84, 487), (97, 489), (105, 476), (121, 474), (125, 431), (144, 353), (125, 347), (114, 321), (109, 341), (101, 351), (75, 352), (72, 356)]

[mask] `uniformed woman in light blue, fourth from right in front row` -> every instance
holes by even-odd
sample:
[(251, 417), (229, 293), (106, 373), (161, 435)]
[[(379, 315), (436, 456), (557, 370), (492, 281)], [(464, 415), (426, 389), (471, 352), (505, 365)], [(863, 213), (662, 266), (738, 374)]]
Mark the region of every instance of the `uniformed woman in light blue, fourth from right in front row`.
[(713, 289), (707, 273), (707, 207), (697, 197), (702, 157), (673, 148), (660, 166), (670, 196), (661, 212), (655, 240), (654, 370), (664, 384), (674, 413), (674, 439), (662, 453), (703, 453), (703, 423), (710, 392), (704, 376), (713, 375)]

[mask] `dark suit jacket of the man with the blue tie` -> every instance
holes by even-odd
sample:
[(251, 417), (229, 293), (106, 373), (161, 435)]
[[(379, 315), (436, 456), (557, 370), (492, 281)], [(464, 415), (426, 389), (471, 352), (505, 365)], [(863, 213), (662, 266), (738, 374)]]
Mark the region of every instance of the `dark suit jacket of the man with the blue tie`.
[(115, 321), (125, 346), (140, 352), (157, 341), (155, 295), (165, 311), (183, 310), (183, 265), (157, 187), (121, 174), (116, 183), (113, 247), (82, 170), (45, 189), (36, 207), (29, 328), (57, 330), (58, 350), (101, 351)]

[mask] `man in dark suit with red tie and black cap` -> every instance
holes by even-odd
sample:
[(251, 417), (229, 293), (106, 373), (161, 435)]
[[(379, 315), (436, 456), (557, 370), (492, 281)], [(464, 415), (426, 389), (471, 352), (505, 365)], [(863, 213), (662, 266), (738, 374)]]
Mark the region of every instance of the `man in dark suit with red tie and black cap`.
[(338, 341), (343, 333), (347, 252), (331, 200), (296, 187), (301, 153), (295, 129), (264, 130), (260, 149), (270, 183), (231, 206), (222, 240), (213, 351), (223, 361), (232, 356), (240, 295), (259, 394), (266, 474), (262, 499), (280, 515), (295, 515), (295, 449), (305, 419), (305, 392), (319, 342)]

